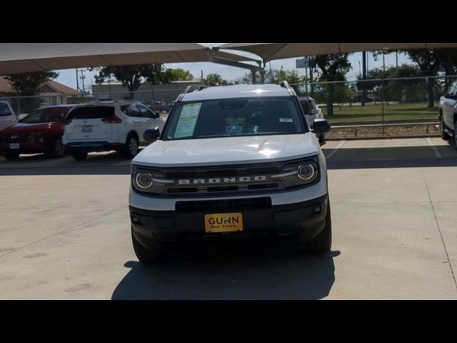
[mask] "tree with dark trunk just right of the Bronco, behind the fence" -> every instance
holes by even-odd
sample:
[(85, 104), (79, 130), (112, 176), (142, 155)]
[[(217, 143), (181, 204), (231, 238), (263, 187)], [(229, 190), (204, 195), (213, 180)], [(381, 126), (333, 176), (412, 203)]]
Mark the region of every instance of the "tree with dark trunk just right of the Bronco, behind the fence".
[[(348, 61), (349, 54), (329, 54), (316, 56), (316, 65), (321, 69), (320, 81), (345, 81), (346, 74), (351, 70), (351, 64)], [(328, 84), (327, 114), (333, 116), (333, 101), (337, 84)], [(339, 87), (344, 84), (338, 84)]]

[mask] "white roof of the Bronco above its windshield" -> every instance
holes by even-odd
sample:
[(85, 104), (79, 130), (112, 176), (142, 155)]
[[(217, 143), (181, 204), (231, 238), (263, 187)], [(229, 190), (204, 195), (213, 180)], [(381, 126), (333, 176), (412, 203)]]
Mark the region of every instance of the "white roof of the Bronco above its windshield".
[(237, 84), (234, 86), (215, 86), (184, 94), (181, 101), (210, 99), (233, 99), (256, 96), (291, 96), (289, 89), (278, 84)]

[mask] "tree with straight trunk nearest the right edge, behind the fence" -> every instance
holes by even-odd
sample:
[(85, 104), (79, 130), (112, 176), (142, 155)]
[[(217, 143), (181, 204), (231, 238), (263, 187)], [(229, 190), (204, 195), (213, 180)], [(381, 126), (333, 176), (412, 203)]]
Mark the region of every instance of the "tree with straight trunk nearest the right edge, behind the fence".
[(428, 50), (407, 50), (409, 58), (415, 62), (422, 71), (423, 76), (431, 76), (427, 79), (427, 91), (428, 91), (428, 107), (433, 108), (435, 106), (435, 76), (441, 67), (441, 59), (439, 54), (433, 49)]

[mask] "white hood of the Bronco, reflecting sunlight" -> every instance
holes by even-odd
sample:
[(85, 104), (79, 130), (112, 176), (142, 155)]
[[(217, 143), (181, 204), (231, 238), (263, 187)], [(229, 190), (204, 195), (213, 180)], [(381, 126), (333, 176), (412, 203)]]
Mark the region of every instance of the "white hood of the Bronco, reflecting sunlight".
[(155, 141), (132, 161), (143, 166), (250, 164), (314, 156), (320, 151), (316, 136), (288, 134), (209, 139)]

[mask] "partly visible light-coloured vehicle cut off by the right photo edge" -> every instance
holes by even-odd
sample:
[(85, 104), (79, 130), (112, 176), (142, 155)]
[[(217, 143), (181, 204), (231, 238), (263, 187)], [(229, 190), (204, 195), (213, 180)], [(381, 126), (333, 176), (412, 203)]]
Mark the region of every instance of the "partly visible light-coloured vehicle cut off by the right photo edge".
[(457, 80), (440, 99), (441, 138), (453, 139), (457, 148)]

